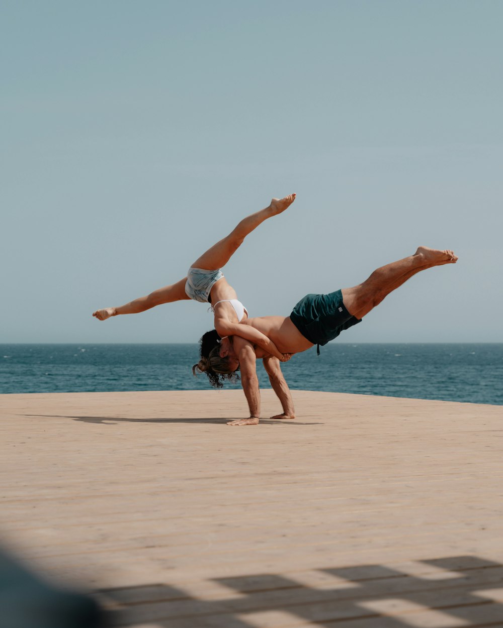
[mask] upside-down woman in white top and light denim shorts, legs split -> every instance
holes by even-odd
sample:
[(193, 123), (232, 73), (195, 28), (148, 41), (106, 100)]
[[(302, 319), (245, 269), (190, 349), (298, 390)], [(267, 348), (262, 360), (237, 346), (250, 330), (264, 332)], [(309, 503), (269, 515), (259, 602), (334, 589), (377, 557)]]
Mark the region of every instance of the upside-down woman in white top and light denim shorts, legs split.
[[(214, 313), (214, 330), (207, 332), (201, 338), (201, 360), (194, 365), (192, 371), (206, 372), (214, 386), (221, 386), (222, 379), (232, 379), (233, 372), (239, 367), (239, 362), (229, 364), (228, 357), (219, 357), (218, 342), (226, 336), (241, 336), (254, 345), (261, 347), (268, 354), (274, 355), (282, 362), (290, 359), (289, 354), (282, 354), (274, 342), (262, 332), (248, 325), (240, 325), (248, 318), (248, 311), (238, 301), (236, 291), (230, 286), (221, 269), (228, 263), (243, 240), (254, 229), (257, 229), (264, 220), (281, 214), (294, 202), (296, 195), (290, 194), (285, 198), (273, 198), (265, 209), (241, 220), (240, 224), (214, 244), (211, 249), (196, 259), (187, 273), (187, 276), (177, 283), (153, 291), (148, 296), (141, 296), (126, 305), (116, 308), (104, 308), (92, 313), (98, 320), (118, 316), (120, 314), (137, 314), (162, 303), (193, 299), (201, 303), (211, 303)], [(217, 346), (215, 346), (217, 345)], [(209, 360), (211, 360), (211, 365)], [(222, 364), (221, 364), (222, 362)]]

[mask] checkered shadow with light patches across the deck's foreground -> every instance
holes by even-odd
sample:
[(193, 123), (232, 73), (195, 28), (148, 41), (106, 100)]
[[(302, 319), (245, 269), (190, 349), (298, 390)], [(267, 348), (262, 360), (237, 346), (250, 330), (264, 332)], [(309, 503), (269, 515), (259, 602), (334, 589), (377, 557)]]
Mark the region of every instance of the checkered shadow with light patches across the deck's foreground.
[[(318, 570), (321, 587), (292, 577), (218, 578), (229, 591), (199, 599), (166, 584), (100, 592), (114, 626), (162, 628), (482, 628), (503, 626), (503, 565), (452, 556), (423, 560), (419, 575), (384, 565)], [(327, 582), (331, 580), (331, 584)], [(335, 584), (334, 584), (335, 583)], [(327, 586), (328, 585), (328, 586)]]

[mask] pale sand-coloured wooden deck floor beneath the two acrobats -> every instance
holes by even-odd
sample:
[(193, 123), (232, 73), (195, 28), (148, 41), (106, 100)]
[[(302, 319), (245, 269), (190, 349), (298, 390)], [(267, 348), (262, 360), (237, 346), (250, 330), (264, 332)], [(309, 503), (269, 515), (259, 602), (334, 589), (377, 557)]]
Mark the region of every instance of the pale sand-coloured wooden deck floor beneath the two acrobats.
[(116, 625), (502, 627), (503, 407), (294, 399), (0, 396), (0, 543)]

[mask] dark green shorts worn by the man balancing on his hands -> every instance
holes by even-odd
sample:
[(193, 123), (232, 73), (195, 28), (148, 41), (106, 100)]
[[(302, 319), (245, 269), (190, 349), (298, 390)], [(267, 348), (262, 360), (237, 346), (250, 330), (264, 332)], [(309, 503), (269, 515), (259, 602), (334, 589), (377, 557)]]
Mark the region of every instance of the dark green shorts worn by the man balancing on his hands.
[(329, 295), (306, 295), (290, 314), (292, 323), (314, 345), (326, 345), (345, 329), (362, 321), (346, 310), (340, 290)]

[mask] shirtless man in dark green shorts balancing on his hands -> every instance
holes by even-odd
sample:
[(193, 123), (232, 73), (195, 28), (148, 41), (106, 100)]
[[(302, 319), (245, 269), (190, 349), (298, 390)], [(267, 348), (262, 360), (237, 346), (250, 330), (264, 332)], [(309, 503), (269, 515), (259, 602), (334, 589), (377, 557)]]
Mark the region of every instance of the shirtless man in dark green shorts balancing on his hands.
[[(336, 338), (341, 331), (360, 323), (376, 305), (396, 290), (412, 275), (433, 266), (455, 264), (458, 257), (452, 251), (438, 251), (420, 246), (414, 255), (387, 264), (373, 271), (370, 277), (353, 288), (343, 288), (328, 295), (307, 295), (294, 307), (289, 317), (267, 316), (248, 318), (244, 322), (274, 342), (281, 354), (296, 354), (313, 345), (324, 345)], [(272, 387), (283, 407), (283, 414), (273, 418), (294, 418), (294, 405), (289, 388), (280, 369), (279, 360), (267, 354), (246, 338), (227, 336), (221, 338), (218, 352), (218, 368), (225, 359), (227, 369), (215, 371), (229, 374), (238, 367), (241, 384), (250, 408), (250, 417), (230, 421), (228, 425), (257, 425), (260, 417), (260, 391), (256, 372), (257, 358), (263, 359)], [(204, 358), (202, 358), (204, 360)], [(199, 362), (201, 364), (201, 362)], [(213, 366), (211, 354), (206, 357), (205, 368)], [(197, 365), (196, 367), (197, 368)]]

